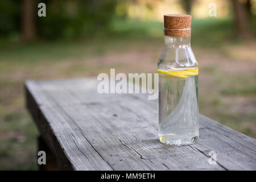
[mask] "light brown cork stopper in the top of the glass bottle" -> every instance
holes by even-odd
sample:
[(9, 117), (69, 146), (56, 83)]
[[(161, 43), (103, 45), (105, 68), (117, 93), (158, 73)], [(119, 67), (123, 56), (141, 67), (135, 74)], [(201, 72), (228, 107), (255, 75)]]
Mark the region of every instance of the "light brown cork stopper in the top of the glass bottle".
[(190, 36), (191, 19), (191, 15), (164, 15), (164, 35)]

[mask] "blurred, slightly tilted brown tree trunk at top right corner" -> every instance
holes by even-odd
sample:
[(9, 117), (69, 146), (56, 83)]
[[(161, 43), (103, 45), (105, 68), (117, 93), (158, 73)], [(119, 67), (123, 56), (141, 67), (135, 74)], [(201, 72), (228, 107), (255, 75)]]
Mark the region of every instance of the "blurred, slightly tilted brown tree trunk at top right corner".
[(250, 24), (246, 13), (245, 3), (238, 0), (232, 0), (234, 11), (234, 24), (238, 36), (250, 37), (253, 33), (250, 30)]

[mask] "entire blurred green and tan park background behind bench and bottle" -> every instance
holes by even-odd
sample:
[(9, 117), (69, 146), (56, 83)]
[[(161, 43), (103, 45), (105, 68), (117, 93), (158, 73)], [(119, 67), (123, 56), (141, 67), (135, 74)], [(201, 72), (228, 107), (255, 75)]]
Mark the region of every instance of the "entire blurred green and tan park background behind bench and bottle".
[(1, 0), (0, 169), (37, 169), (24, 80), (155, 73), (164, 14), (193, 17), (200, 113), (256, 138), (255, 0)]

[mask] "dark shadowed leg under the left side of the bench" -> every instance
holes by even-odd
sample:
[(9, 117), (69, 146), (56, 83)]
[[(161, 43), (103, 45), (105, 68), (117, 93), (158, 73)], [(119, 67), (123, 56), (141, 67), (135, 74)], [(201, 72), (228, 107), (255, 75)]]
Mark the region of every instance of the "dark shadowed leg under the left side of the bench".
[[(46, 142), (44, 142), (44, 139), (42, 137), (38, 137), (38, 152), (39, 151), (45, 151), (46, 152), (46, 164), (38, 164), (38, 169), (40, 171), (55, 171), (59, 170), (59, 167), (57, 165), (56, 157), (52, 153), (51, 150), (49, 150)], [(37, 159), (39, 158), (38, 154), (36, 154)]]

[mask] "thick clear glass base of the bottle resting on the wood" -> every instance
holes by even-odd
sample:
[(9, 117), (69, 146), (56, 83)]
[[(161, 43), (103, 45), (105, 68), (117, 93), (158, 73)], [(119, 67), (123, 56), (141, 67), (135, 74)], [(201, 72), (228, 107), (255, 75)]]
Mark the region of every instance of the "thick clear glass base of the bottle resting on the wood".
[(187, 146), (189, 144), (196, 143), (198, 135), (195, 137), (183, 137), (183, 139), (176, 139), (172, 135), (159, 135), (160, 142), (171, 146)]

